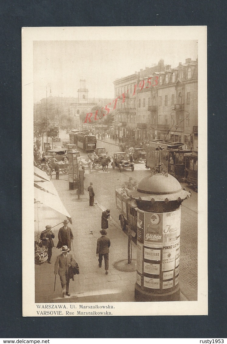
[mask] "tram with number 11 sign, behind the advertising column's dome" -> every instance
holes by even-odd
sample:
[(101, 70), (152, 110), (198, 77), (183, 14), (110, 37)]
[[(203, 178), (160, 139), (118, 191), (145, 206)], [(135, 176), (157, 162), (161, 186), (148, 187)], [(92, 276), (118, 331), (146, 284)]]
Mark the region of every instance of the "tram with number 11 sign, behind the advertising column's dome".
[(181, 142), (164, 142), (160, 140), (151, 141), (146, 148), (145, 167), (153, 169), (159, 161), (158, 147), (162, 147), (161, 161), (167, 173), (173, 175), (176, 179), (185, 178), (185, 157), (192, 153), (187, 146)]

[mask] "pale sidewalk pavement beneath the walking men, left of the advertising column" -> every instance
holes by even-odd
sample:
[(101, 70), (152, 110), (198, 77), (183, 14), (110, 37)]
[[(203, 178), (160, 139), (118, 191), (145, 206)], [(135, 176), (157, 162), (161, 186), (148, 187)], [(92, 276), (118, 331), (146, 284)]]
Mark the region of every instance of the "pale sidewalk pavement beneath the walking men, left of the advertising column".
[[(75, 280), (70, 280), (70, 297), (61, 296), (60, 278), (56, 277), (56, 287), (54, 292), (54, 263), (57, 255), (61, 254), (60, 249), (56, 249), (58, 230), (62, 225), (54, 228), (54, 244), (52, 249), (52, 264), (44, 262), (42, 265), (35, 265), (35, 302), (133, 302), (134, 284), (136, 282), (136, 271), (123, 272), (113, 267), (115, 262), (128, 260), (128, 237), (120, 228), (120, 225), (109, 220), (107, 236), (110, 238), (111, 246), (109, 252), (109, 274), (105, 275), (104, 261), (102, 267), (98, 267), (98, 257), (96, 256), (97, 239), (101, 236), (101, 213), (103, 205), (95, 204), (89, 206), (89, 195), (87, 190), (89, 181), (85, 180), (85, 194), (80, 195), (80, 200), (76, 190), (68, 190), (68, 181), (62, 179), (52, 180), (56, 190), (72, 216), (72, 228), (74, 240), (71, 253), (79, 265), (79, 275), (75, 275)], [(96, 201), (95, 201), (96, 203)], [(64, 219), (63, 219), (64, 220)], [(54, 221), (54, 219), (53, 219)], [(53, 223), (54, 225), (54, 223)], [(136, 245), (132, 243), (132, 259), (136, 259)], [(187, 298), (181, 293), (181, 301)]]

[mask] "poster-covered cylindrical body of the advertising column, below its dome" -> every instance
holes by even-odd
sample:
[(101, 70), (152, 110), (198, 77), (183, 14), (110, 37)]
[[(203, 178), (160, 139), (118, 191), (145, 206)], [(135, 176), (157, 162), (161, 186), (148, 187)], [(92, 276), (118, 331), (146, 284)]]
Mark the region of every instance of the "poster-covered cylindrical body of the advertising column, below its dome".
[[(152, 298), (172, 301), (180, 292), (181, 208), (166, 213), (137, 211), (137, 280)], [(176, 295), (175, 295), (176, 298)]]

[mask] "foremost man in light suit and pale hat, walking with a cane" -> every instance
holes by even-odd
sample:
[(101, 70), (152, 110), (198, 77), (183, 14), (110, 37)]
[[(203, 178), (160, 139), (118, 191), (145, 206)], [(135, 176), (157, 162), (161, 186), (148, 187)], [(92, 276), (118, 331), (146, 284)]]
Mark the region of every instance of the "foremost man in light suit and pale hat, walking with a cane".
[(54, 275), (60, 276), (60, 281), (62, 285), (62, 297), (64, 298), (65, 295), (70, 296), (69, 290), (69, 274), (68, 268), (71, 265), (71, 262), (75, 260), (71, 253), (69, 253), (68, 247), (66, 245), (62, 246), (62, 253), (61, 255), (57, 256), (55, 265), (54, 265)]

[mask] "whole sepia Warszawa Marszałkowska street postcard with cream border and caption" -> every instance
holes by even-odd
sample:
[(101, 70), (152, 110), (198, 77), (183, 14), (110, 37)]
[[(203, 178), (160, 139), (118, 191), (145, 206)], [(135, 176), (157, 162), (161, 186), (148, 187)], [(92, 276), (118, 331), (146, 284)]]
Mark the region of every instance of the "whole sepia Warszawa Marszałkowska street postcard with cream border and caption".
[(23, 316), (208, 314), (206, 51), (22, 28)]

